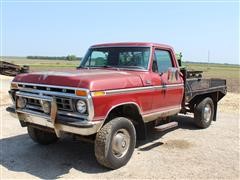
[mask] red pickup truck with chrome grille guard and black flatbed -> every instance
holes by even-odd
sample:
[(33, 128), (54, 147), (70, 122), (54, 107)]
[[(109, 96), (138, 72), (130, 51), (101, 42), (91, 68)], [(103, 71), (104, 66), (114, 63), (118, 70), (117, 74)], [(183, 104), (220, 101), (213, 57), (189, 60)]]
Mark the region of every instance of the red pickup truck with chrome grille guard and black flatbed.
[(203, 79), (179, 63), (168, 45), (94, 45), (75, 71), (17, 75), (7, 111), (39, 144), (63, 133), (94, 140), (98, 162), (116, 169), (129, 161), (136, 139), (146, 137), (149, 122), (164, 131), (177, 126), (169, 117), (178, 113), (193, 113), (199, 128), (216, 120), (226, 80)]

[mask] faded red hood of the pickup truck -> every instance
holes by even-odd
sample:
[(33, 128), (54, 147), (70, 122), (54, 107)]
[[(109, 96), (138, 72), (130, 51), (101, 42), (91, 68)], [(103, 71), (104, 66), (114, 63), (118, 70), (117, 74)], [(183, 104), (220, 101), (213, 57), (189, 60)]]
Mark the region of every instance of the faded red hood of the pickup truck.
[(141, 78), (130, 71), (80, 69), (71, 72), (34, 72), (20, 74), (13, 82), (86, 88), (90, 91), (143, 86)]

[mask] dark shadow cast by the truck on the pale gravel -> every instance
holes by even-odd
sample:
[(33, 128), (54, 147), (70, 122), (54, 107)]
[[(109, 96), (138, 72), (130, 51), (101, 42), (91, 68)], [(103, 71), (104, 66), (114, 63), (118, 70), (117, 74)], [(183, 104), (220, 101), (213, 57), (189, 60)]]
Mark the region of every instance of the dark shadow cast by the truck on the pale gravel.
[[(189, 122), (191, 119), (185, 116), (178, 118), (183, 121), (180, 128), (193, 129), (193, 124)], [(147, 139), (138, 142), (138, 150), (141, 145), (159, 139), (168, 132), (148, 132)], [(150, 150), (160, 145), (161, 142), (157, 142), (142, 150)], [(97, 163), (94, 144), (73, 141), (71, 137), (64, 137), (52, 145), (41, 146), (34, 143), (27, 134), (23, 134), (1, 139), (0, 147), (0, 163), (3, 167), (9, 171), (26, 172), (41, 179), (56, 179), (69, 173), (71, 169), (79, 173), (96, 174), (96, 178), (97, 174), (109, 171)]]

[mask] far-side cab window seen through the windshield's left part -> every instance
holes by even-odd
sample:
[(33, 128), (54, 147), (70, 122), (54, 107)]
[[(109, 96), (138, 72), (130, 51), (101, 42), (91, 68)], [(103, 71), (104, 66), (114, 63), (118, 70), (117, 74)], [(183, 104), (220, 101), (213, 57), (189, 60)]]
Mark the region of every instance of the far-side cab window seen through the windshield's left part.
[(90, 66), (104, 66), (107, 64), (108, 52), (93, 51), (91, 54)]

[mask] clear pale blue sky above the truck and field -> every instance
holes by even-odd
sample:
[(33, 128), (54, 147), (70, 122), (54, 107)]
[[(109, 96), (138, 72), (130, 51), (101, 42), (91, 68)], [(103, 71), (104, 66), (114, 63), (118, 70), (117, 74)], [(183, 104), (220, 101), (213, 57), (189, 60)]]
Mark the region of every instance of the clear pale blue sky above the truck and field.
[[(10, 0), (9, 0), (10, 1)], [(185, 60), (239, 62), (239, 3), (2, 2), (2, 55), (83, 56), (96, 43), (165, 43)]]

